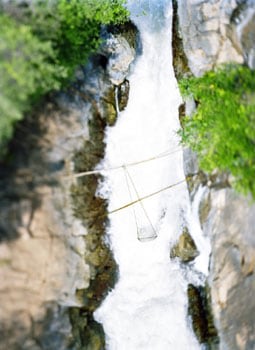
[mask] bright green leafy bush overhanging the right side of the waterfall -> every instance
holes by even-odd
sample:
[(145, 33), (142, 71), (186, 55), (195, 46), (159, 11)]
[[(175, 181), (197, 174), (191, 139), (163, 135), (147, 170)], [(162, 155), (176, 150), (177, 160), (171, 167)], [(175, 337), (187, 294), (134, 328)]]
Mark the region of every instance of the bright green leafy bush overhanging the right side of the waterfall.
[(229, 172), (235, 188), (255, 198), (255, 72), (229, 64), (183, 79), (180, 89), (197, 102), (184, 118), (182, 142), (197, 152), (201, 169)]

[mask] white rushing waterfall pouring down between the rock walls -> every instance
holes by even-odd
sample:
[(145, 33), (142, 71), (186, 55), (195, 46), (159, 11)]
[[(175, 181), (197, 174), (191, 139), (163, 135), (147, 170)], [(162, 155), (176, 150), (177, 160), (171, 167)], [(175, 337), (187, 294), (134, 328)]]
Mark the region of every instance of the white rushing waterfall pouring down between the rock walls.
[[(187, 280), (169, 257), (184, 225), (200, 230), (176, 134), (181, 97), (172, 67), (171, 1), (133, 0), (128, 7), (141, 34), (142, 54), (129, 76), (128, 106), (107, 130), (101, 164), (126, 166), (106, 173), (100, 193), (108, 198), (110, 212), (158, 193), (109, 216), (107, 235), (119, 279), (95, 319), (103, 324), (107, 349), (200, 349), (187, 318)], [(208, 252), (202, 239), (195, 240)], [(206, 272), (207, 255), (195, 265)]]

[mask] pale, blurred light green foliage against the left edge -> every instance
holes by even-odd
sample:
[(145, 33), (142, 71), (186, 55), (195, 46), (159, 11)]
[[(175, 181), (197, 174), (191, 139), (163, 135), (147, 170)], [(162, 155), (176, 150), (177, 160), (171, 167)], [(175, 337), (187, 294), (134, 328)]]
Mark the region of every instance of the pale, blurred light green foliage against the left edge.
[(22, 118), (32, 99), (60, 87), (66, 72), (50, 63), (55, 59), (50, 42), (41, 42), (27, 25), (0, 15), (0, 140), (8, 140), (12, 126)]

